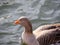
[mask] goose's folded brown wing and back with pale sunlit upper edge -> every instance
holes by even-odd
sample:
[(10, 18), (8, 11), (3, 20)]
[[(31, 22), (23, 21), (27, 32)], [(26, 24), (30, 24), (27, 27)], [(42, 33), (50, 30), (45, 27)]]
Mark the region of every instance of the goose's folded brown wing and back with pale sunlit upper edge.
[(41, 45), (49, 45), (60, 41), (60, 24), (49, 24), (38, 27), (33, 31)]

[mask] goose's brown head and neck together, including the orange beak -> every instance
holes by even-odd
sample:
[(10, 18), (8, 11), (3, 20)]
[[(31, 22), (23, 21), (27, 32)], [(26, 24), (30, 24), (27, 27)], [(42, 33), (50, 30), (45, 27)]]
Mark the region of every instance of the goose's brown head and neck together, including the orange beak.
[(16, 21), (14, 21), (14, 23), (16, 25), (21, 25), (25, 28), (25, 32), (27, 33), (32, 33), (32, 25), (30, 23), (30, 21), (28, 20), (28, 18), (22, 16), (19, 19), (17, 19)]

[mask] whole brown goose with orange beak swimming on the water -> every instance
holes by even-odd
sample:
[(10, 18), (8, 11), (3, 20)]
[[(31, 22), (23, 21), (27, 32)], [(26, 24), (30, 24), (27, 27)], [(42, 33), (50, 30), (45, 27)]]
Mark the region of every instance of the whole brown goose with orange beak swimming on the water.
[(22, 16), (14, 24), (25, 28), (21, 36), (25, 45), (50, 45), (60, 41), (60, 23), (42, 25), (33, 30), (30, 20)]

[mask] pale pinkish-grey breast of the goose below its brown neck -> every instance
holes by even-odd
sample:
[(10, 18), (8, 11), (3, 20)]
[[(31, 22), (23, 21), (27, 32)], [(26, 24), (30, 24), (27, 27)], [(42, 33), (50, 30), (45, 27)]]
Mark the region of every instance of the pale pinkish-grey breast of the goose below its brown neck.
[(25, 42), (27, 45), (39, 45), (33, 34), (27, 34), (25, 32), (22, 33), (23, 43)]

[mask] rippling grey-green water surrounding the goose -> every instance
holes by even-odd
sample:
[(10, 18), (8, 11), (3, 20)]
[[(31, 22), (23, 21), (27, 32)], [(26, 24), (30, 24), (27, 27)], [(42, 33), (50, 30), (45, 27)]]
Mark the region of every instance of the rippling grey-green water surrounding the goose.
[(60, 0), (0, 0), (0, 45), (20, 45), (24, 30), (13, 21), (21, 16), (30, 19), (33, 29), (60, 22)]

